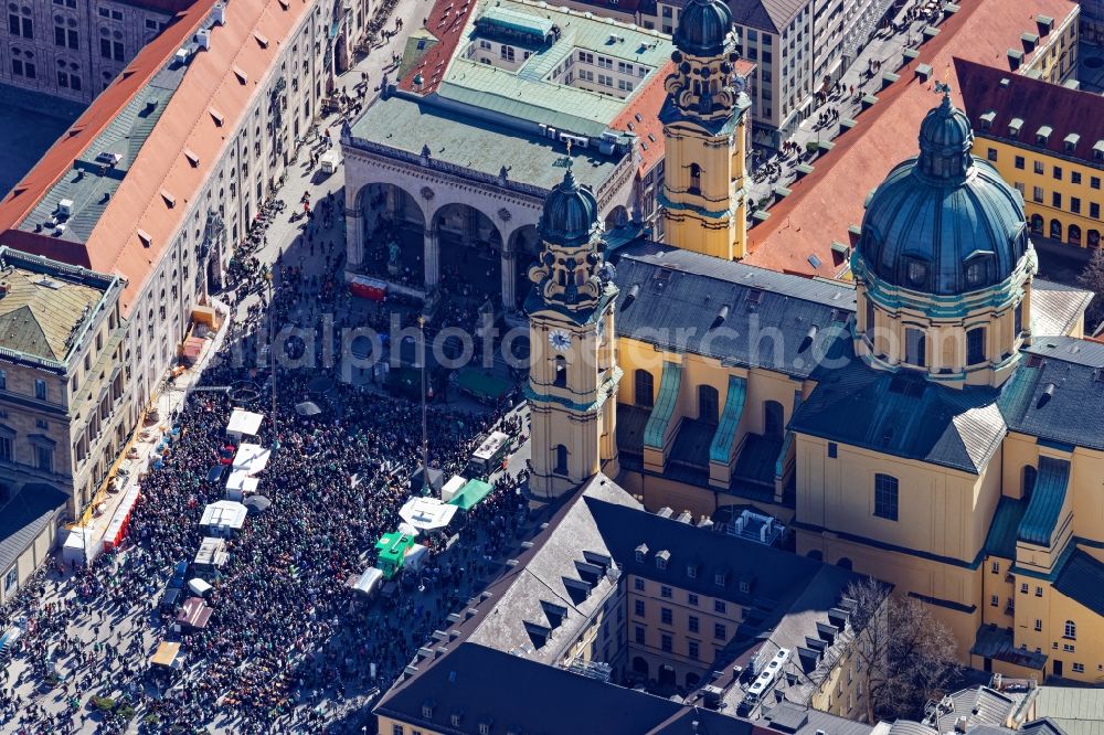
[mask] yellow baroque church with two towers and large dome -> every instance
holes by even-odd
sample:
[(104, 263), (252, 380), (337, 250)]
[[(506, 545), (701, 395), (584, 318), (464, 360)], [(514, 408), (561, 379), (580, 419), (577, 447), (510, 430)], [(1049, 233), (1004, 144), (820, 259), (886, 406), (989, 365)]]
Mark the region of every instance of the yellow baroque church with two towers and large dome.
[[(661, 113), (664, 243), (603, 241), (570, 162), (526, 301), (531, 489), (769, 515), (930, 604), (965, 662), (1104, 677), (1104, 345), (1037, 277), (1021, 195), (943, 88), (867, 203), (853, 284), (746, 266), (732, 19), (691, 0)], [(840, 196), (852, 192), (838, 192)], [(669, 564), (691, 564), (675, 550)]]

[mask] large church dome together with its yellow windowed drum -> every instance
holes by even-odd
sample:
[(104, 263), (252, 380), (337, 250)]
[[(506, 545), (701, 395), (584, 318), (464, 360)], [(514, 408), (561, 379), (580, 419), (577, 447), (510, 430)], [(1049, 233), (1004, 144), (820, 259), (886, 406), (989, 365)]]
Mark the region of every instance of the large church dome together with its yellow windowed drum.
[(940, 88), (920, 155), (890, 171), (862, 217), (856, 352), (954, 387), (997, 386), (1031, 339), (1038, 260), (1022, 195), (970, 155), (969, 119)]

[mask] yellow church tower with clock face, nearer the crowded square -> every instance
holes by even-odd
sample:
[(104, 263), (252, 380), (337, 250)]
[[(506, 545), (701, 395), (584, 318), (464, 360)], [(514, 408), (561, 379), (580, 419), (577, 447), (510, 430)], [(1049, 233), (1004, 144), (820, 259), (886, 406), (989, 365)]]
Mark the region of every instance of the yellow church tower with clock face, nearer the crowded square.
[(594, 194), (571, 172), (544, 201), (541, 255), (530, 271), (529, 398), (537, 497), (554, 498), (598, 471), (616, 477), (617, 349), (612, 266), (604, 264)]

